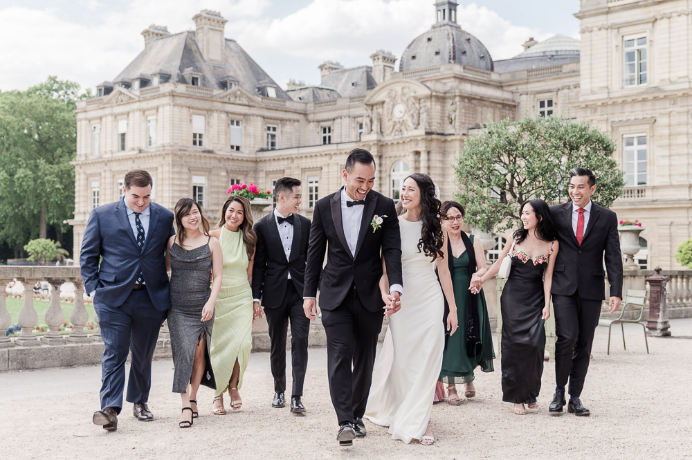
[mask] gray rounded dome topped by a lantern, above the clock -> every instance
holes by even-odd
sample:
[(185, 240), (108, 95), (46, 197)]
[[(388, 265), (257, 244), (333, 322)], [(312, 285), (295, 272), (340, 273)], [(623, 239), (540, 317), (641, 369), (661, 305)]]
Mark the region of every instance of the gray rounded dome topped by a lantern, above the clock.
[(487, 48), (457, 24), (456, 9), (455, 1), (435, 3), (437, 24), (406, 47), (399, 62), (400, 72), (452, 63), (493, 70)]

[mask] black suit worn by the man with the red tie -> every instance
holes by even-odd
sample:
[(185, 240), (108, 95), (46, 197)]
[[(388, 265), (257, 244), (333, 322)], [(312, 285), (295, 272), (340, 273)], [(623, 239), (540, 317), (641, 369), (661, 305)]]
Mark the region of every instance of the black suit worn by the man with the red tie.
[(572, 227), (572, 202), (550, 207), (560, 250), (555, 260), (552, 297), (555, 311), (555, 379), (570, 381), (570, 395), (579, 398), (589, 369), (591, 345), (605, 299), (603, 255), (610, 297), (622, 298), (622, 255), (617, 216), (592, 203), (581, 245)]

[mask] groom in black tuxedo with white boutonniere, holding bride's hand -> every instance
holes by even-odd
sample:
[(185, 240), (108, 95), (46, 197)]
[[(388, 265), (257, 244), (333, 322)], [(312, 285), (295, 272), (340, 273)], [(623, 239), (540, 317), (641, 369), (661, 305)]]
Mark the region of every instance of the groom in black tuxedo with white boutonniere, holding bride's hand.
[[(401, 308), (403, 288), (399, 220), (394, 201), (372, 190), (372, 154), (353, 149), (342, 174), (345, 187), (320, 199), (315, 206), (303, 309), (307, 318), (317, 318), (315, 297), (319, 284), (322, 325), (327, 333), (329, 392), (339, 423), (336, 439), (340, 445), (352, 445), (356, 436), (365, 436), (363, 414), (382, 330), (382, 257), (390, 283), (392, 313)], [(381, 224), (376, 217), (382, 218)], [(325, 250), (327, 266), (322, 268)]]

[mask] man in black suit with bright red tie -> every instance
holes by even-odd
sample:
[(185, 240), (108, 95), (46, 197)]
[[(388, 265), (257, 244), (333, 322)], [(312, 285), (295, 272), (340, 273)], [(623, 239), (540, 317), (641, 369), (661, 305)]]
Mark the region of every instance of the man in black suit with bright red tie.
[(591, 345), (605, 300), (605, 269), (610, 283), (610, 313), (622, 300), (622, 255), (617, 216), (593, 201), (596, 177), (589, 169), (570, 170), (571, 201), (550, 207), (558, 232), (560, 252), (555, 260), (552, 298), (555, 312), (555, 380), (557, 387), (549, 412), (563, 412), (565, 387), (570, 383), (567, 412), (588, 416), (581, 403)]

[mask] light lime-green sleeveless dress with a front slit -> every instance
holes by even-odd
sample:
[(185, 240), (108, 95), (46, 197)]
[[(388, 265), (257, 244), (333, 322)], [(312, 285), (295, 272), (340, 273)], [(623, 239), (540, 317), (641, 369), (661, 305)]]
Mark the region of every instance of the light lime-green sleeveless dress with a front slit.
[(235, 360), (240, 366), (238, 389), (248, 367), (253, 348), (253, 295), (248, 281), (248, 254), (243, 231), (231, 232), (221, 227), (221, 250), (224, 253), (224, 277), (215, 304), (214, 334), (210, 347), (212, 368), (217, 381), (214, 396), (226, 391)]

